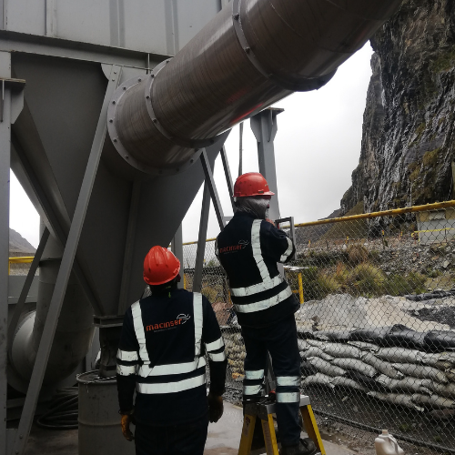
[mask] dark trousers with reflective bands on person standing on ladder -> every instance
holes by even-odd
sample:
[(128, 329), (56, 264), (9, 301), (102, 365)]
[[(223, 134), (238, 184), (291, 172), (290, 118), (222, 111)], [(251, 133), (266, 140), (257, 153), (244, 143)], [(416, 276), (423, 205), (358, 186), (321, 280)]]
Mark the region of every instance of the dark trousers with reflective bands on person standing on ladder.
[(247, 357), (245, 359), (244, 399), (257, 399), (261, 394), (268, 352), (277, 378), (277, 422), (281, 444), (298, 444), (300, 403), (300, 355), (294, 315), (273, 326), (260, 329), (243, 327)]

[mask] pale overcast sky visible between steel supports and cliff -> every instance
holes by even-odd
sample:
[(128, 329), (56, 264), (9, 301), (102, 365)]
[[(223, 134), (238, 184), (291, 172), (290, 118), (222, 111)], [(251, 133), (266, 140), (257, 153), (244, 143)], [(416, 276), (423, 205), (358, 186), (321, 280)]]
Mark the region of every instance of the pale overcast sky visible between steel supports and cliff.
[[(372, 50), (367, 43), (339, 67), (337, 74), (318, 91), (296, 93), (280, 101), (275, 138), (279, 208), (281, 217), (296, 223), (327, 217), (339, 208), (350, 187), (350, 176), (359, 163), (363, 111)], [(233, 178), (238, 175), (238, 126), (227, 138), (226, 149)], [(243, 133), (243, 172), (258, 171), (258, 151), (249, 121)], [(215, 180), (225, 215), (232, 215), (221, 160), (215, 164)], [(184, 241), (197, 240), (202, 188), (183, 222)], [(24, 190), (11, 173), (10, 227), (34, 247), (39, 241), (39, 217)], [(219, 229), (210, 209), (207, 237)]]

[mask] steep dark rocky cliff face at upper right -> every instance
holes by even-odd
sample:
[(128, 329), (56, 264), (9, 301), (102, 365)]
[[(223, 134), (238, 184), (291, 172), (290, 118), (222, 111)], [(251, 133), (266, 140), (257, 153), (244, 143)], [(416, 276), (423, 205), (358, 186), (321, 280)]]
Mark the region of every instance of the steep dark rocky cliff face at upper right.
[(372, 38), (375, 54), (359, 166), (343, 213), (452, 197), (455, 1), (404, 0)]

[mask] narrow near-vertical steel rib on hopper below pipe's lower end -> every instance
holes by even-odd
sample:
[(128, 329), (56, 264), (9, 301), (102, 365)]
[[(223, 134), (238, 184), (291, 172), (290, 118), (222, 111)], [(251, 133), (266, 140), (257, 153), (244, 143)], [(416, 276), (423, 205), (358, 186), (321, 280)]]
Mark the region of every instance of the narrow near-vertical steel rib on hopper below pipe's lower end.
[(139, 210), (139, 200), (141, 194), (140, 181), (133, 182), (131, 191), (131, 202), (129, 205), (128, 227), (126, 230), (125, 256), (122, 268), (122, 283), (120, 285), (120, 297), (118, 298), (118, 315), (125, 314), (128, 308), (128, 290), (131, 278), (131, 264), (136, 238), (137, 212)]

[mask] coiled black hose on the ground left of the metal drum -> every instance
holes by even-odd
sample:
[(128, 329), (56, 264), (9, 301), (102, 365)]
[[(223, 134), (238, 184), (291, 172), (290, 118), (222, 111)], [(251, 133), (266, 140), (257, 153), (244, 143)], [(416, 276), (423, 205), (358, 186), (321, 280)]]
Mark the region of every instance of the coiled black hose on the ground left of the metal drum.
[(36, 425), (47, 430), (77, 430), (77, 387), (59, 389), (49, 408), (36, 420)]

